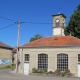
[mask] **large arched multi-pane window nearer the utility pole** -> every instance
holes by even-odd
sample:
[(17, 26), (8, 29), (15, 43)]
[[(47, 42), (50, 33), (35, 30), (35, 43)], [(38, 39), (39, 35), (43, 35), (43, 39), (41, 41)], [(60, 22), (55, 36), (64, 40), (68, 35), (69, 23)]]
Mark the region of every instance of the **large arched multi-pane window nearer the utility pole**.
[(38, 70), (44, 70), (48, 68), (48, 55), (39, 54), (38, 55)]

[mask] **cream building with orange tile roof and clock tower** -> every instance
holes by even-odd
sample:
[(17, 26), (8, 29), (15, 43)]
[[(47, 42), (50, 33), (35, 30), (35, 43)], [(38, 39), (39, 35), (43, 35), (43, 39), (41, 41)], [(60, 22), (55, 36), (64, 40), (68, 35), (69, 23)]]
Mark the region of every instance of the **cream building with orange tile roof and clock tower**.
[(64, 14), (52, 15), (53, 35), (24, 44), (19, 50), (19, 72), (29, 74), (33, 68), (65, 71), (80, 77), (80, 39), (64, 35)]

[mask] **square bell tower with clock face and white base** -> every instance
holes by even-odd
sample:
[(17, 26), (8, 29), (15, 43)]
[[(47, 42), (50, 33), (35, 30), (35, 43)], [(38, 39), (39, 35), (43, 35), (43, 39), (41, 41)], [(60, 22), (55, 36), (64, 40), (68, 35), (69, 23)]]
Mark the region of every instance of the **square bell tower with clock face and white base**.
[(66, 16), (64, 14), (52, 15), (53, 17), (53, 36), (65, 36), (64, 27), (66, 26)]

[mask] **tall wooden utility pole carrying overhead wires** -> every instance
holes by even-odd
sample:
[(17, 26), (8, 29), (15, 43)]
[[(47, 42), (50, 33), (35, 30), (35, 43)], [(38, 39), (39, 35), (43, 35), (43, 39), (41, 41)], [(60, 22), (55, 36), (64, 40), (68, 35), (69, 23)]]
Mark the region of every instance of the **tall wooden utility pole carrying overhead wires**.
[(19, 46), (20, 46), (20, 21), (15, 22), (18, 24), (18, 37), (17, 37), (17, 54), (16, 54), (16, 73), (18, 73), (18, 68), (19, 68)]

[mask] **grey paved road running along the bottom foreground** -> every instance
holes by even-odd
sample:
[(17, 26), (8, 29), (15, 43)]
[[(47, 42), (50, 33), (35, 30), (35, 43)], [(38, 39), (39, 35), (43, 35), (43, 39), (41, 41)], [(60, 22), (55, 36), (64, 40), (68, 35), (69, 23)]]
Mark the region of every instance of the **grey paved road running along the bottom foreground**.
[(80, 78), (27, 76), (11, 73), (11, 70), (0, 70), (0, 80), (80, 80)]

